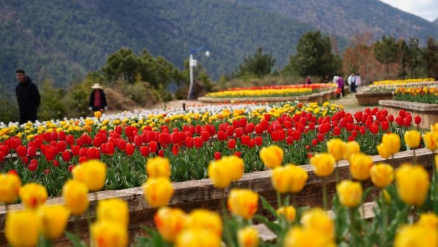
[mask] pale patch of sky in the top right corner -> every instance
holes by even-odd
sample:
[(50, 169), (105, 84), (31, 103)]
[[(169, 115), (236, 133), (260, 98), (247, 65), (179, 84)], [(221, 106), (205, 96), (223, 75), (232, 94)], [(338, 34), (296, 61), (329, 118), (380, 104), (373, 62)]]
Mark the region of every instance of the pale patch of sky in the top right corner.
[(380, 0), (399, 10), (415, 14), (428, 21), (438, 18), (438, 0)]

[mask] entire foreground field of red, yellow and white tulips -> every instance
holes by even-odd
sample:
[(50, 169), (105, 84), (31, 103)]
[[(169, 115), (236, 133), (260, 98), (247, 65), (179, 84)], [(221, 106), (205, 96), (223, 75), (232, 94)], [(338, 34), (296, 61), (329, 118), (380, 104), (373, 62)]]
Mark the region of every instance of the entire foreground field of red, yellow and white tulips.
[[(129, 211), (123, 200), (101, 200), (89, 220), (90, 242), (65, 232), (69, 216), (89, 212), (88, 193), (142, 187), (157, 208), (156, 230), (146, 228), (136, 246), (438, 246), (438, 189), (421, 164), (395, 169), (402, 150), (437, 150), (438, 124), (422, 134), (422, 121), (404, 110), (379, 108), (347, 113), (326, 102), (222, 104), (186, 110), (152, 110), (0, 126), (0, 202), (23, 203), (8, 211), (5, 237), (11, 246), (51, 246), (66, 235), (73, 246), (128, 246)], [(371, 155), (384, 163), (373, 164)], [(413, 153), (415, 156), (415, 152)], [(336, 181), (336, 195), (309, 209), (294, 205), (314, 174), (330, 176), (336, 162), (349, 161), (351, 180)], [(242, 174), (272, 169), (277, 204), (251, 189), (231, 189), (222, 215), (207, 209), (167, 207), (172, 182), (209, 178), (227, 189)], [(371, 189), (375, 217), (360, 217)], [(62, 196), (64, 204), (45, 205)], [(334, 217), (327, 214), (332, 202)], [(263, 207), (275, 221), (256, 211)], [(228, 217), (228, 212), (231, 217)], [(263, 242), (253, 220), (277, 238)], [(25, 232), (26, 237), (21, 233)], [(134, 243), (131, 243), (134, 244)]]

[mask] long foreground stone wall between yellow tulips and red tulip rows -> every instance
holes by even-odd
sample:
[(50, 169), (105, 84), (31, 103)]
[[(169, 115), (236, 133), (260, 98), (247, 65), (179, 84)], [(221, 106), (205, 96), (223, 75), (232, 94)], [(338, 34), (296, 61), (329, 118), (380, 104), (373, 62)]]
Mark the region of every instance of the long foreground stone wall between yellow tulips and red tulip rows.
[[(395, 167), (399, 166), (405, 162), (411, 162), (412, 160), (412, 151), (400, 152), (395, 155), (395, 160), (393, 164)], [(421, 149), (416, 151), (417, 161), (419, 164), (422, 164), (428, 169), (431, 173), (433, 166), (433, 154), (426, 149)], [(382, 158), (380, 156), (373, 156), (373, 161), (375, 163), (382, 162)], [(297, 198), (295, 200), (295, 206), (322, 206), (322, 180), (318, 176), (316, 176), (313, 172), (311, 165), (303, 165), (303, 168), (309, 172), (309, 178), (306, 186), (303, 191), (297, 194)], [(349, 178), (349, 164), (347, 161), (340, 161), (338, 168), (340, 178), (347, 179)], [(329, 177), (327, 177), (327, 192), (329, 202), (332, 199), (332, 196), (336, 192), (336, 171)], [(270, 204), (276, 205), (276, 192), (273, 189), (270, 183), (271, 171), (263, 171), (263, 172), (253, 172), (251, 174), (244, 174), (242, 179), (233, 183), (231, 186), (233, 188), (247, 188), (253, 189), (263, 196), (270, 202)], [(371, 187), (372, 183), (370, 180), (362, 183), (364, 189), (367, 187)], [(192, 211), (192, 209), (196, 208), (205, 208), (214, 211), (220, 212), (221, 209), (221, 200), (227, 198), (229, 194), (229, 189), (225, 191), (214, 188), (211, 181), (209, 179), (203, 180), (190, 180), (181, 183), (174, 183), (174, 196), (170, 201), (170, 207), (179, 207), (184, 211)], [(105, 198), (122, 198), (126, 200), (129, 204), (130, 210), (130, 242), (135, 241), (136, 235), (144, 234), (141, 229), (142, 226), (153, 226), (153, 216), (156, 212), (156, 209), (151, 208), (143, 199), (143, 191), (141, 187), (136, 187), (132, 189), (124, 189), (119, 191), (101, 191), (97, 193), (98, 199)], [(90, 209), (91, 209), (91, 217), (94, 217), (95, 205), (96, 201), (94, 200), (94, 195), (90, 194)], [(55, 198), (51, 200), (47, 200), (47, 204), (59, 204), (62, 203), (62, 198)], [(21, 210), (23, 209), (22, 204), (12, 205), (10, 207), (11, 210)], [(259, 209), (257, 213), (262, 215), (268, 215), (264, 209), (262, 209), (262, 203), (259, 204)], [(5, 220), (5, 207), (0, 207), (0, 246), (5, 246), (5, 237), (3, 236), (3, 226)], [(79, 224), (79, 228), (82, 231), (82, 238), (88, 238), (88, 229), (87, 229), (87, 218), (86, 215), (82, 215), (81, 217), (70, 217), (67, 231), (73, 232), (75, 228), (75, 224)], [(67, 245), (66, 239), (60, 239), (57, 243), (58, 246)]]

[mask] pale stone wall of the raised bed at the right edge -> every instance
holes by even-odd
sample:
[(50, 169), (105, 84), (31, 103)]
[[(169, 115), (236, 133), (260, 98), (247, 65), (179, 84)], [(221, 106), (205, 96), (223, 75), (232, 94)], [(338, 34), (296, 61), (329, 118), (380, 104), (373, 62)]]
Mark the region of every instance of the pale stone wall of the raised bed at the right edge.
[(414, 116), (422, 117), (419, 128), (430, 128), (430, 124), (438, 122), (438, 104), (426, 104), (419, 102), (408, 102), (402, 100), (379, 100), (379, 105), (384, 106), (389, 114), (398, 115), (404, 109)]

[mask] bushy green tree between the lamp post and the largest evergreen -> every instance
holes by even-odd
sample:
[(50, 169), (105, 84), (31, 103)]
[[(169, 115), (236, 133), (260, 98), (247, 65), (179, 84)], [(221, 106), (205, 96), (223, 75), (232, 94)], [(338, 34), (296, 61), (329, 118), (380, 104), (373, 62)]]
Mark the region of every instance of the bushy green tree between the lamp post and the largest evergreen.
[(242, 77), (257, 77), (262, 78), (264, 75), (269, 75), (274, 67), (275, 58), (271, 54), (263, 54), (263, 49), (260, 47), (254, 56), (249, 56), (244, 59), (243, 64), (240, 64), (238, 71), (233, 75), (234, 78)]

